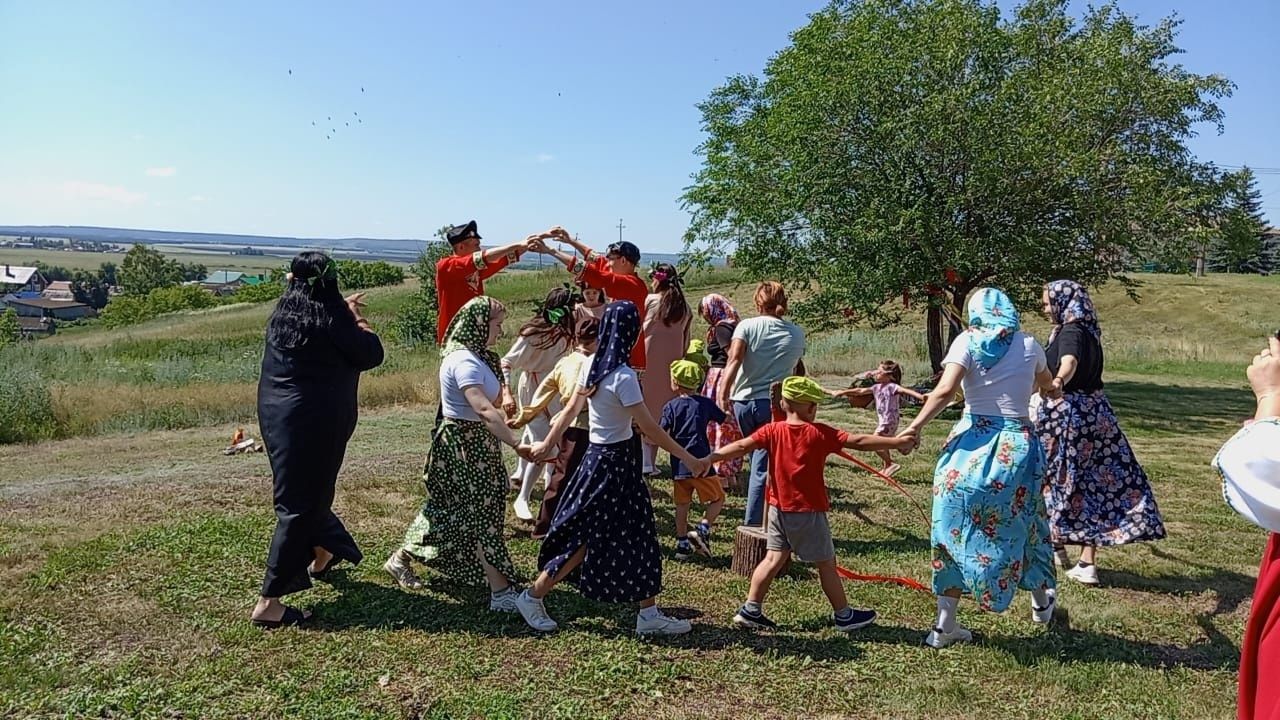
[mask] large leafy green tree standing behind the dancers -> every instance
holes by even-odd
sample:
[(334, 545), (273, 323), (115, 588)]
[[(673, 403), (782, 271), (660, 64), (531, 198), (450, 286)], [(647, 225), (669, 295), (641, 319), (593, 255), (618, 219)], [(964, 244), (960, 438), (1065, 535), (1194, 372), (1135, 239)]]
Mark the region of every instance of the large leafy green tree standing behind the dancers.
[(808, 288), (799, 313), (891, 323), (928, 311), (937, 366), (968, 295), (1029, 307), (1055, 277), (1124, 278), (1189, 224), (1231, 85), (1174, 64), (1178, 22), (1068, 0), (1009, 18), (978, 0), (845, 0), (764, 77), (700, 105), (686, 246)]

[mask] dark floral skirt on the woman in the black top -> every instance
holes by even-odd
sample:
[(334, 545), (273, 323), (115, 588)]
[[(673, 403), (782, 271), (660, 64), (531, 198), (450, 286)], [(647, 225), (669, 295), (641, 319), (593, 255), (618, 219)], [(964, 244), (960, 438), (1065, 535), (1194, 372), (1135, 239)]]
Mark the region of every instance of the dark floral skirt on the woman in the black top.
[(1069, 392), (1041, 406), (1050, 530), (1064, 544), (1115, 546), (1165, 537), (1151, 482), (1106, 393)]

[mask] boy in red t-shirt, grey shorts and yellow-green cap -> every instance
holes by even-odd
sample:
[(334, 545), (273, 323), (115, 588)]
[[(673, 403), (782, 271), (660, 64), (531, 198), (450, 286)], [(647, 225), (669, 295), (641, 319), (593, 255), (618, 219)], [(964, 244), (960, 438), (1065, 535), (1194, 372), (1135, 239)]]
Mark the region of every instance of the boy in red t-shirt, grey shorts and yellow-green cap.
[(782, 409), (787, 418), (769, 423), (735, 443), (710, 454), (709, 462), (741, 457), (756, 448), (769, 451), (769, 480), (765, 502), (769, 512), (764, 560), (751, 574), (746, 603), (733, 615), (733, 624), (745, 628), (773, 629), (777, 624), (764, 616), (762, 605), (773, 578), (795, 552), (800, 560), (818, 569), (822, 592), (831, 601), (836, 629), (850, 633), (876, 621), (874, 610), (849, 607), (845, 585), (836, 574), (836, 546), (831, 539), (827, 511), (827, 483), (822, 470), (827, 456), (842, 448), (897, 450), (904, 455), (915, 447), (913, 437), (852, 436), (815, 423), (818, 402), (828, 397), (822, 386), (809, 378), (790, 377), (782, 380)]

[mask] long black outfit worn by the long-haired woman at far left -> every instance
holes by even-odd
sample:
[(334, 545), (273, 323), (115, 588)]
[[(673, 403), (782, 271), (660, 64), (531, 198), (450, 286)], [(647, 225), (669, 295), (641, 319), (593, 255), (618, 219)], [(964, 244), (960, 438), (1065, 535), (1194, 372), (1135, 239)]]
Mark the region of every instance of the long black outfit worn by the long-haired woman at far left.
[(333, 497), (356, 429), (360, 373), (383, 361), (378, 336), (337, 316), (328, 331), (298, 347), (266, 343), (257, 383), (257, 418), (271, 461), (275, 536), (266, 559), (262, 597), (311, 587), (314, 547), (360, 562), (355, 538), (333, 512)]

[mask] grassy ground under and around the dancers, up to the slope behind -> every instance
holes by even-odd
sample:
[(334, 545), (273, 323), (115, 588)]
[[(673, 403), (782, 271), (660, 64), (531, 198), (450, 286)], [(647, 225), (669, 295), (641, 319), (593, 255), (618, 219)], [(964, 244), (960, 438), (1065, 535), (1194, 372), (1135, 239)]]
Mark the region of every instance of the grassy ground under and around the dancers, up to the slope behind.
[[(562, 630), (536, 637), (438, 577), (425, 592), (396, 588), (380, 564), (422, 500), (434, 414), (434, 402), (421, 401), (434, 396), (434, 359), (402, 350), (362, 383), (365, 410), (339, 480), (337, 509), (366, 562), (292, 598), (316, 611), (312, 629), (256, 632), (247, 614), (274, 523), (270, 471), (264, 455), (216, 451), (234, 423), (256, 430), (243, 407), (268, 309), (55, 337), (20, 361), (50, 373), (59, 363), (78, 368), (55, 380), (72, 393), (61, 411), (90, 404), (97, 419), (83, 423), (88, 437), (0, 447), (0, 716), (1233, 717), (1265, 537), (1222, 503), (1208, 461), (1252, 413), (1243, 366), (1274, 331), (1280, 284), (1144, 279), (1140, 305), (1110, 288), (1098, 301), (1108, 392), (1169, 538), (1102, 552), (1105, 587), (1065, 585), (1050, 628), (1029, 621), (1025, 596), (1002, 615), (965, 602), (961, 620), (978, 642), (941, 652), (920, 644), (932, 597), (850, 583), (852, 602), (881, 618), (846, 638), (828, 625), (805, 566), (769, 596), (781, 630), (732, 629), (746, 592), (727, 557), (740, 498), (731, 498), (716, 557), (666, 562), (659, 602), (692, 619), (682, 638), (639, 641), (634, 609), (572, 589), (548, 600)], [(492, 290), (525, 307), (545, 282), (515, 275)], [(694, 284), (748, 306), (750, 288), (727, 275)], [(371, 293), (375, 324), (406, 292)], [(1043, 322), (1027, 315), (1043, 337)], [(913, 328), (812, 338), (809, 364), (836, 384), (882, 356), (904, 361), (909, 377), (925, 369)], [(192, 374), (201, 382), (173, 379)], [(100, 395), (119, 405), (93, 400)], [(206, 410), (192, 410), (188, 429), (146, 430), (140, 404)], [(820, 416), (851, 429), (874, 424), (873, 413), (847, 407)], [(901, 479), (924, 503), (947, 425), (936, 421), (904, 461)], [(915, 509), (840, 461), (828, 465), (828, 483), (841, 562), (928, 583), (928, 528)], [(669, 483), (657, 488), (669, 559)], [(506, 536), (517, 566), (532, 574), (527, 529), (508, 518)]]

